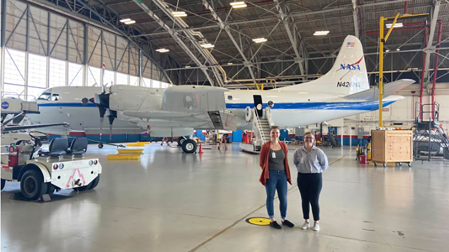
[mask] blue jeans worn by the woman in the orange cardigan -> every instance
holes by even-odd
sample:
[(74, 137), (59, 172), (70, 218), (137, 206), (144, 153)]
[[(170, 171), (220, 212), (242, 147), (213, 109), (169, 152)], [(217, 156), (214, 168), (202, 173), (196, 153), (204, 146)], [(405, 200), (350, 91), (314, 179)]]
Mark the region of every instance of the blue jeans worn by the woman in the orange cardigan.
[(265, 182), (265, 190), (267, 191), (267, 211), (270, 218), (274, 218), (274, 193), (277, 189), (279, 197), (279, 210), (281, 210), (281, 218), (287, 218), (287, 176), (285, 171), (269, 170), (269, 178)]

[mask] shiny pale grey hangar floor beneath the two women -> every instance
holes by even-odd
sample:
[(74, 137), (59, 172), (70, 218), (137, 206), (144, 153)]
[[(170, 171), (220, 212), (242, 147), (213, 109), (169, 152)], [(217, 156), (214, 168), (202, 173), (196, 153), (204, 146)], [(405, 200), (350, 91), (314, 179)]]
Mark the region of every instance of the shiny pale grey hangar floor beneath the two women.
[[(176, 146), (176, 143), (173, 144)], [(97, 188), (38, 204), (10, 200), (18, 182), (1, 192), (1, 252), (229, 252), (229, 251), (448, 251), (449, 164), (411, 168), (359, 165), (349, 147), (323, 148), (321, 231), (301, 230), (293, 148), (289, 152), (288, 219), (274, 230), (247, 217), (267, 217), (258, 181), (259, 156), (233, 144), (184, 154), (158, 143), (136, 161), (108, 161), (114, 147), (90, 145), (100, 156)], [(279, 207), (275, 201), (279, 220)]]

